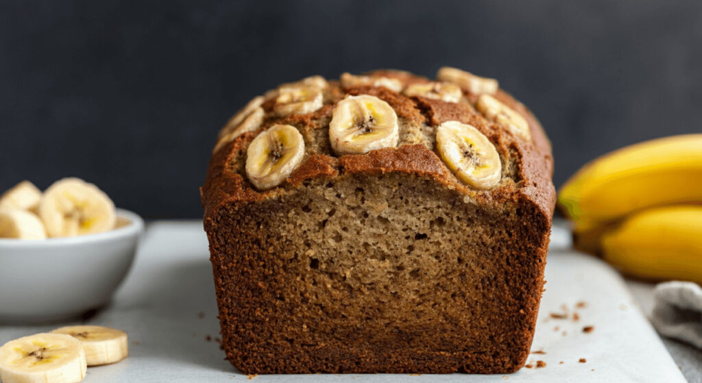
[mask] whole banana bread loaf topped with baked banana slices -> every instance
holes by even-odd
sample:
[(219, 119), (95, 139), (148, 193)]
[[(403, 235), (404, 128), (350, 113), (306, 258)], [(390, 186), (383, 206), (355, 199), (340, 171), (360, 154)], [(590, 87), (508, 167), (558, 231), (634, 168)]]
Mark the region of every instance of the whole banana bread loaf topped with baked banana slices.
[(249, 374), (518, 370), (551, 175), (527, 108), (458, 69), (254, 98), (201, 189), (227, 358)]

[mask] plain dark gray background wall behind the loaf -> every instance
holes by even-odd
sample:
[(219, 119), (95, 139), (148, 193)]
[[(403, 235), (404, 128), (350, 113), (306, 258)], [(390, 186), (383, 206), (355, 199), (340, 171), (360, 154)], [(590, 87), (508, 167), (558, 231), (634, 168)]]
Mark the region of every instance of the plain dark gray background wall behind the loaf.
[(75, 175), (145, 217), (198, 217), (216, 132), (253, 95), (442, 65), (534, 110), (557, 185), (702, 131), (702, 1), (1, 1), (0, 189)]

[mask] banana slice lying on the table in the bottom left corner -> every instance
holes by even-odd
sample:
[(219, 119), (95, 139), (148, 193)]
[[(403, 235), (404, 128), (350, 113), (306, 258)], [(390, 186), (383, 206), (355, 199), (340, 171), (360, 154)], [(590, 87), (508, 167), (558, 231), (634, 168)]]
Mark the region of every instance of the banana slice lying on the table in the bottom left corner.
[(86, 370), (83, 345), (69, 335), (30, 335), (0, 347), (3, 383), (76, 383)]

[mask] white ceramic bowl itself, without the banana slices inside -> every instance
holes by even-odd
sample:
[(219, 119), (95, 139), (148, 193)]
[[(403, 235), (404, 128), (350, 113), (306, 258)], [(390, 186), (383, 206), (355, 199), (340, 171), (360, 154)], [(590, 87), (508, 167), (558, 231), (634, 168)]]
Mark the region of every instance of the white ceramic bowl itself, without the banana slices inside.
[(131, 267), (144, 221), (117, 209), (117, 228), (71, 238), (0, 238), (0, 322), (81, 316), (110, 302)]

